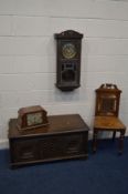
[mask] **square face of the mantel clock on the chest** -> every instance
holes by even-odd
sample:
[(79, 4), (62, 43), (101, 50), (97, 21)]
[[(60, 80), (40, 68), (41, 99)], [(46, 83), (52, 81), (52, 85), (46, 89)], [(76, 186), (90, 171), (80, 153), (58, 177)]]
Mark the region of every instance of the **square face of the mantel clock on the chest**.
[(42, 119), (42, 113), (36, 112), (36, 113), (31, 113), (26, 115), (26, 124), (28, 126), (36, 125), (36, 124), (42, 124), (43, 119)]

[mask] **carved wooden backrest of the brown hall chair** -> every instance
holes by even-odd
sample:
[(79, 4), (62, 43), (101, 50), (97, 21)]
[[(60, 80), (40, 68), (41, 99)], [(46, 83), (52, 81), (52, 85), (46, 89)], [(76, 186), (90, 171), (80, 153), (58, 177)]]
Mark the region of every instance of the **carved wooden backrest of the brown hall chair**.
[(102, 84), (96, 92), (95, 115), (118, 116), (121, 90), (116, 84)]

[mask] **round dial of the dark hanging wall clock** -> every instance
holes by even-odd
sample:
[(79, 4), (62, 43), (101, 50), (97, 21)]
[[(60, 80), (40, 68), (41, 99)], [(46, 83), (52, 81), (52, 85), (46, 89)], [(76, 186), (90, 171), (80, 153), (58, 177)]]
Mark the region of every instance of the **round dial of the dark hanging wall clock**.
[(76, 47), (68, 42), (65, 43), (62, 48), (62, 54), (65, 59), (72, 59), (76, 55)]

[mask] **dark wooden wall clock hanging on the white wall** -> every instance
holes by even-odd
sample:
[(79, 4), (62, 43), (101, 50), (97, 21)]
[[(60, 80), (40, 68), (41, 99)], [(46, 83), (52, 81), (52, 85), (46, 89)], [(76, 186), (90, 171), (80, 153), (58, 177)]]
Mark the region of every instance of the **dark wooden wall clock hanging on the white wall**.
[(56, 86), (62, 91), (81, 86), (82, 38), (82, 33), (73, 30), (55, 33)]

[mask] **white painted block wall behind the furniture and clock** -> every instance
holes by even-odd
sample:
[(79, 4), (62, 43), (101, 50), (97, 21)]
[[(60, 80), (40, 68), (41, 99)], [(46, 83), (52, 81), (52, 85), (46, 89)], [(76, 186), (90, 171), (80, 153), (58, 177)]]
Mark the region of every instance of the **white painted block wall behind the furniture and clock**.
[[(54, 33), (64, 30), (84, 34), (81, 88), (68, 93), (55, 88)], [(127, 2), (0, 0), (0, 147), (8, 146), (8, 122), (21, 106), (79, 113), (92, 129), (94, 91), (105, 82), (122, 90), (120, 118), (128, 126)]]

